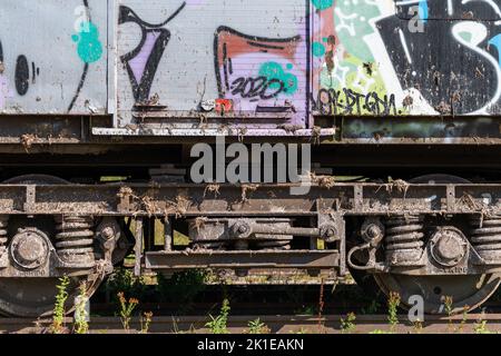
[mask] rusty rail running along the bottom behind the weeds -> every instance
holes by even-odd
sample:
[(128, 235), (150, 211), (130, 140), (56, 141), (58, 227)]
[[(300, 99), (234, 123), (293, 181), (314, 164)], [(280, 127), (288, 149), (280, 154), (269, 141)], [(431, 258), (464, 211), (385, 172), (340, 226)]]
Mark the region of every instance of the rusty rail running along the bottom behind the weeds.
[[(227, 322), (229, 334), (247, 334), (249, 320), (259, 319), (265, 334), (385, 334), (392, 326), (385, 315), (356, 316), (351, 327), (343, 327), (342, 315), (313, 316), (230, 316)], [(210, 334), (206, 327), (208, 316), (153, 317), (148, 334)], [(1, 334), (49, 334), (50, 319), (0, 319)], [(66, 319), (66, 328), (71, 330), (72, 319)], [(393, 328), (396, 334), (482, 334), (501, 333), (501, 314), (470, 314), (453, 317), (429, 316), (422, 324), (412, 324), (406, 316), (399, 317)], [(130, 329), (125, 330), (119, 317), (92, 317), (90, 334), (140, 334), (145, 333), (145, 320), (132, 318)]]

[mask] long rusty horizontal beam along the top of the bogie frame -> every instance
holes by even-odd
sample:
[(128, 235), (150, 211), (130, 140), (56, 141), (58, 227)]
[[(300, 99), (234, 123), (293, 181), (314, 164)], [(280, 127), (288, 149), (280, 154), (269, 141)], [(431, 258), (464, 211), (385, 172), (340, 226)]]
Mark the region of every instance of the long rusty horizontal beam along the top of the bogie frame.
[(315, 217), (340, 215), (501, 214), (501, 185), (336, 184), (312, 186), (292, 196), (291, 185), (263, 185), (246, 194), (222, 185), (218, 194), (205, 185), (0, 185), (1, 215)]

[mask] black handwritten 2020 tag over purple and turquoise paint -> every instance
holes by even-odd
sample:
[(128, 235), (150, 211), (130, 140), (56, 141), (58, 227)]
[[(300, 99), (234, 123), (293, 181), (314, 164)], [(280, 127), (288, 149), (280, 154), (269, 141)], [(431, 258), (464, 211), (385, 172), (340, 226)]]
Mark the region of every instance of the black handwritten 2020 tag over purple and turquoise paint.
[[(275, 87), (278, 87), (274, 90)], [(279, 79), (268, 80), (266, 77), (237, 78), (232, 83), (232, 95), (243, 99), (261, 98), (268, 100), (285, 91), (285, 83)]]

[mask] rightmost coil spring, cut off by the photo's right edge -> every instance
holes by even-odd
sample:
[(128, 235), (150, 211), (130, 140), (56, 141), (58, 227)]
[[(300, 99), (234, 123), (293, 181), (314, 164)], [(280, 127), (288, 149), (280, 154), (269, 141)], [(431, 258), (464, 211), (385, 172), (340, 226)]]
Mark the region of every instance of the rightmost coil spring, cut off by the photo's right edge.
[(501, 260), (501, 216), (471, 220), (473, 244), (480, 257), (487, 260)]

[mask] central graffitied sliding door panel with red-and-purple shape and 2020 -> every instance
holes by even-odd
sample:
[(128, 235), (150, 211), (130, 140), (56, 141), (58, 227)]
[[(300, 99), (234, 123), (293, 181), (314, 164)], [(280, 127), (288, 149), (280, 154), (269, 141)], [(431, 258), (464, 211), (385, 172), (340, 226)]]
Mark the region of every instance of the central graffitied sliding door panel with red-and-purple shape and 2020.
[(283, 120), (305, 126), (305, 12), (304, 0), (277, 0), (273, 6), (265, 0), (121, 1), (121, 117), (131, 120), (130, 112), (146, 110), (144, 103), (155, 95), (154, 110), (167, 117), (202, 111), (207, 117), (230, 112), (227, 117), (239, 119), (281, 112), (288, 116)]

